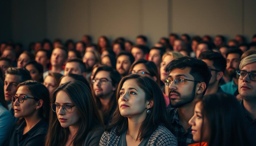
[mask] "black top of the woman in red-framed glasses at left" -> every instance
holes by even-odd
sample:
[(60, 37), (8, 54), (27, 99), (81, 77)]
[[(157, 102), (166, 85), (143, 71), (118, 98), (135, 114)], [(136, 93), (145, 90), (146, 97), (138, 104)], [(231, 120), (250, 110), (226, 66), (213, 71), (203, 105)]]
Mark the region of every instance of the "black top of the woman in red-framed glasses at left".
[(48, 122), (45, 119), (41, 119), (33, 128), (23, 135), (25, 126), (26, 121), (23, 121), (20, 125), (15, 125), (9, 146), (44, 146)]

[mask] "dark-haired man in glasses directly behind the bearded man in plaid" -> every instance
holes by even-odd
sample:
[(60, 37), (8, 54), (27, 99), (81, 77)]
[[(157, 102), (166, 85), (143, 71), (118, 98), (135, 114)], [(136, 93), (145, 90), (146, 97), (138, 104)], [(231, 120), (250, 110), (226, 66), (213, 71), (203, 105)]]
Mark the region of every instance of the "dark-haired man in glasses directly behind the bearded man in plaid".
[(211, 71), (211, 80), (205, 95), (222, 93), (223, 91), (219, 87), (219, 84), (227, 67), (226, 59), (220, 53), (211, 50), (202, 52), (198, 59), (206, 62), (209, 70)]

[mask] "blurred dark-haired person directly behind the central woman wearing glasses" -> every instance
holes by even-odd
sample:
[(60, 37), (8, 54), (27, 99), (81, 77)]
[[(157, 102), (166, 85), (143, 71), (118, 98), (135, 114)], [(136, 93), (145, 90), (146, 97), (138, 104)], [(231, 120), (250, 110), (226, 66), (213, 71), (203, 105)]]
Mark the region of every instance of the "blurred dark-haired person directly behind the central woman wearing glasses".
[(132, 47), (131, 53), (137, 61), (138, 59), (146, 59), (149, 49), (144, 45), (135, 45)]

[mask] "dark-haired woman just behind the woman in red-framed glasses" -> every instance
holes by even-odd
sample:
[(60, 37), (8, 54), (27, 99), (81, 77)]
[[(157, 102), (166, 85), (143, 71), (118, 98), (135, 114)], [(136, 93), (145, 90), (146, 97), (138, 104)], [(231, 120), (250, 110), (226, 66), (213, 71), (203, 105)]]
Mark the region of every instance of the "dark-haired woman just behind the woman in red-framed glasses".
[(31, 76), (31, 80), (43, 83), (43, 66), (36, 61), (29, 61), (24, 69), (28, 70)]

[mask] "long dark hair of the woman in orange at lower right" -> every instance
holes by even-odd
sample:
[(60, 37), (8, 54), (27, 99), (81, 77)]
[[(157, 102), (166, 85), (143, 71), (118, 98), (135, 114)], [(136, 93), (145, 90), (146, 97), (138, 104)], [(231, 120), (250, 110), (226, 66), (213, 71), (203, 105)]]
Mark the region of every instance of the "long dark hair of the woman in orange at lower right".
[[(202, 102), (202, 119), (204, 120), (206, 117), (209, 122), (208, 146), (249, 145), (245, 131), (247, 129), (246, 117), (236, 97), (230, 94), (216, 93), (206, 95), (200, 101)], [(202, 125), (201, 139), (204, 134), (203, 127)]]

